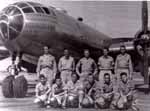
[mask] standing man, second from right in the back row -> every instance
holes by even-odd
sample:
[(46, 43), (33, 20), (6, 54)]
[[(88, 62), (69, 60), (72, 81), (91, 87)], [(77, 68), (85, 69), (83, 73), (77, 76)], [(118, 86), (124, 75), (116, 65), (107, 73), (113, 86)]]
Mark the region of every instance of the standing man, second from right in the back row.
[(101, 84), (104, 83), (104, 74), (108, 73), (112, 78), (112, 70), (114, 66), (114, 60), (111, 56), (108, 55), (109, 49), (103, 49), (103, 56), (99, 57), (98, 59), (98, 66), (99, 66), (99, 81)]

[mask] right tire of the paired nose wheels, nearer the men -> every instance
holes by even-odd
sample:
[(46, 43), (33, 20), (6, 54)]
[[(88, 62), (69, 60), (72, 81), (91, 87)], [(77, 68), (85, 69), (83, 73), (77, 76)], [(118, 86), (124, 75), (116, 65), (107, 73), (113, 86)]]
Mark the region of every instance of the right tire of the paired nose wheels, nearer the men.
[(26, 96), (28, 82), (24, 76), (17, 77), (13, 82), (14, 97), (23, 98)]

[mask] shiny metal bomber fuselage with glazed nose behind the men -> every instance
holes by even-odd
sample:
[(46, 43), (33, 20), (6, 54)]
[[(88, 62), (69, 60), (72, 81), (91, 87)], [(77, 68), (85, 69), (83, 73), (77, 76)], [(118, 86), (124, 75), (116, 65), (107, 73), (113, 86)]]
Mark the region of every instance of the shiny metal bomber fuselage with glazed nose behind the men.
[(84, 48), (94, 52), (111, 44), (110, 37), (67, 13), (33, 2), (17, 2), (2, 10), (0, 38), (12, 53), (35, 58), (28, 61), (33, 64), (42, 55), (45, 45), (58, 58), (65, 48), (80, 57)]

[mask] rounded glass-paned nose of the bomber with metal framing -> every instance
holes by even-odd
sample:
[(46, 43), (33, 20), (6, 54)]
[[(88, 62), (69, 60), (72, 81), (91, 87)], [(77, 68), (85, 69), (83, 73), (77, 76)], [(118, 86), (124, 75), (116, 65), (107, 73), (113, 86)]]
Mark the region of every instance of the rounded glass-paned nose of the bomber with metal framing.
[(15, 39), (23, 28), (23, 15), (16, 6), (6, 7), (0, 14), (0, 35), (2, 40)]

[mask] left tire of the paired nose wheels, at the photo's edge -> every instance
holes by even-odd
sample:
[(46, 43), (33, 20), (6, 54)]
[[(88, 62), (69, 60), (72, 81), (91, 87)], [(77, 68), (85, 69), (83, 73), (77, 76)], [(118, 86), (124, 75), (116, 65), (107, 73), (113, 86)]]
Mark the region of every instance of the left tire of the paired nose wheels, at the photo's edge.
[(14, 76), (9, 75), (2, 82), (2, 93), (6, 98), (12, 98), (14, 96), (13, 81), (14, 81)]

